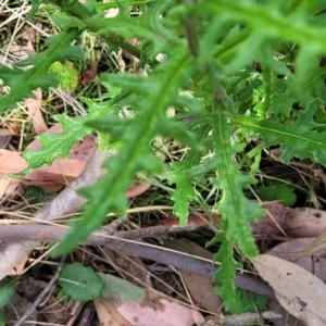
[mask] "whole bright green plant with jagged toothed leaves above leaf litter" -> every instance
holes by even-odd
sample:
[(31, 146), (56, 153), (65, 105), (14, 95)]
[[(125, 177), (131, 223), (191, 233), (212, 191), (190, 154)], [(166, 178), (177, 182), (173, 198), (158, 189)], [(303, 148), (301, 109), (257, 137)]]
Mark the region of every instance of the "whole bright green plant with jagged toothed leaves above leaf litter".
[[(32, 2), (30, 16), (47, 1)], [(58, 75), (49, 73), (49, 67), (55, 61), (83, 58), (72, 43), (86, 29), (139, 58), (147, 72), (146, 77), (103, 72), (101, 79), (121, 93), (102, 102), (85, 99), (87, 116), (55, 116), (65, 131), (40, 136), (41, 150), (22, 153), (29, 163), (27, 173), (51, 164), (58, 155), (66, 156), (72, 145), (92, 130), (120, 143), (118, 153), (104, 163), (110, 173), (83, 191), (89, 199), (84, 217), (55, 253), (86, 239), (108, 212), (123, 215), (124, 192), (137, 173), (175, 184), (174, 213), (183, 224), (190, 202), (197, 201), (195, 183), (210, 175), (211, 185), (221, 190), (213, 208), (222, 214), (221, 231), (212, 240), (221, 243), (215, 259), (222, 265), (215, 277), (222, 297), (231, 301), (234, 244), (249, 258), (259, 253), (249, 223), (263, 214), (243, 195), (255, 181), (253, 172), (243, 172), (236, 160), (246, 139), (279, 146), (284, 162), (297, 156), (326, 163), (326, 2), (111, 1), (106, 5), (120, 12), (110, 18), (103, 15), (103, 4), (95, 1), (87, 7), (78, 0), (49, 2), (61, 9), (53, 21), (62, 32), (48, 40), (43, 52), (16, 62), (13, 68), (0, 66), (0, 77), (11, 89), (0, 98), (1, 113), (32, 97), (38, 87), (57, 86)], [(130, 15), (129, 4), (138, 5), (141, 14)], [(141, 43), (131, 46), (133, 37)], [(163, 62), (156, 61), (159, 53), (164, 54)], [(22, 70), (26, 66), (33, 67)], [(299, 114), (293, 114), (294, 103), (301, 108)], [(130, 118), (118, 117), (116, 108), (122, 105), (130, 108)], [(166, 114), (170, 106), (176, 109), (174, 117)], [(151, 147), (158, 137), (187, 146), (184, 160), (165, 166)]]

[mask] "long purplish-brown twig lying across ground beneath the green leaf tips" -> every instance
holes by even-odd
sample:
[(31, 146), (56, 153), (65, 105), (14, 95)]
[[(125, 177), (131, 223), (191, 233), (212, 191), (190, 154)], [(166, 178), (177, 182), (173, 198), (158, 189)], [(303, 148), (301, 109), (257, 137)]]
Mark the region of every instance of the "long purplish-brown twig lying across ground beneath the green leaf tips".
[[(192, 229), (197, 227), (195, 224), (189, 224), (187, 227)], [(0, 239), (11, 233), (15, 237), (18, 237), (22, 240), (32, 239), (37, 241), (60, 241), (70, 230), (68, 227), (64, 226), (51, 226), (51, 225), (14, 225), (0, 226)], [(92, 234), (87, 240), (86, 244), (90, 246), (106, 246), (111, 249), (122, 251), (128, 254), (141, 256), (143, 259), (152, 260), (162, 264), (171, 265), (176, 268), (186, 269), (189, 273), (202, 275), (208, 278), (213, 278), (214, 273), (216, 272), (216, 266), (213, 265), (212, 261), (203, 261), (200, 258), (192, 256), (183, 252), (176, 252), (166, 248), (155, 247), (145, 242), (131, 241), (130, 238), (150, 237), (153, 235), (153, 228), (143, 229), (143, 231), (135, 230), (134, 231), (117, 231), (115, 236), (108, 236), (105, 231), (98, 231)], [(168, 231), (178, 231), (185, 230), (185, 227), (180, 226), (160, 226), (154, 227), (158, 234), (166, 234)], [(188, 228), (187, 228), (188, 229)], [(121, 236), (118, 238), (117, 236)], [(123, 239), (122, 237), (129, 237), (129, 239)], [(241, 289), (249, 290), (255, 293), (266, 296), (268, 298), (275, 298), (273, 289), (260, 278), (253, 276), (237, 274), (235, 279), (235, 285)]]

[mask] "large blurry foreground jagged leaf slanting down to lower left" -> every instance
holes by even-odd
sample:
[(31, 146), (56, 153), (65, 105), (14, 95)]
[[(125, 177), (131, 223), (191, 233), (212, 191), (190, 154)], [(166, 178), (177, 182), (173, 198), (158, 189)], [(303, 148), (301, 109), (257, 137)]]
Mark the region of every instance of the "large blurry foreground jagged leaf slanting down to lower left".
[[(167, 108), (175, 101), (180, 85), (187, 80), (191, 72), (187, 70), (189, 61), (187, 53), (179, 52), (158, 68), (159, 72), (164, 70), (165, 74), (160, 76), (160, 83), (156, 83), (156, 77), (153, 78), (155, 89), (147, 93), (145, 98), (131, 99), (130, 105), (137, 113), (135, 117), (122, 120), (114, 117), (113, 114), (106, 114), (100, 120), (87, 123), (101, 131), (106, 130), (113, 142), (121, 141), (121, 148), (116, 155), (104, 163), (110, 173), (96, 186), (80, 192), (89, 199), (84, 206), (86, 213), (73, 225), (72, 231), (55, 248), (54, 254), (59, 255), (72, 250), (91, 231), (100, 228), (108, 212), (123, 215), (127, 208), (125, 190), (138, 172), (155, 175), (164, 171), (163, 163), (150, 147), (152, 139), (167, 134), (181, 141), (197, 145), (196, 139), (185, 131), (181, 123), (174, 122), (166, 116)], [(120, 83), (125, 84), (130, 75), (126, 74), (125, 78), (115, 77), (113, 75), (109, 82), (120, 86)], [(130, 85), (135, 87), (134, 76), (130, 77)], [(140, 83), (139, 89), (135, 90), (142, 95), (142, 84)]]

